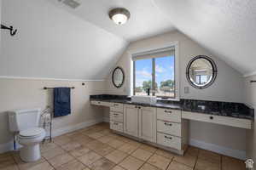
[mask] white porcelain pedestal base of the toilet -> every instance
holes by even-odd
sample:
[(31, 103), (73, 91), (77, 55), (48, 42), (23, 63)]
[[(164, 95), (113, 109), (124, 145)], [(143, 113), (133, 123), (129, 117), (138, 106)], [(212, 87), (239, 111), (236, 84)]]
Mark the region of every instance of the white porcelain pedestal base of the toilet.
[(22, 161), (38, 161), (41, 158), (40, 145), (23, 145), (20, 148), (20, 159)]

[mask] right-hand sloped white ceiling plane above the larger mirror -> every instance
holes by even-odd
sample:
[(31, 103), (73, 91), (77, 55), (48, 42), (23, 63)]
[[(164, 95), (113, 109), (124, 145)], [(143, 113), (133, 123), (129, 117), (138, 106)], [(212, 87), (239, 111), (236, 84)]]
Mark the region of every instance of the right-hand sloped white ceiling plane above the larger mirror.
[(242, 74), (256, 73), (256, 1), (154, 0), (187, 36)]

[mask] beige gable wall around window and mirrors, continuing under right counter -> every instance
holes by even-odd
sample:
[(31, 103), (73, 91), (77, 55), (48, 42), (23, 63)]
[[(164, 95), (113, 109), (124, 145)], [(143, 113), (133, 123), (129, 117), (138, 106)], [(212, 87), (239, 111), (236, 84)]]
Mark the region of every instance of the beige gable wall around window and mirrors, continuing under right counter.
[[(119, 59), (116, 65), (123, 67), (125, 70), (125, 85), (122, 88), (114, 88), (111, 82), (111, 74), (107, 79), (108, 94), (130, 94), (130, 71), (131, 58), (128, 51), (139, 48), (148, 48), (160, 46), (166, 42), (178, 41), (179, 48), (179, 75), (180, 75), (180, 94), (184, 99), (208, 99), (219, 101), (243, 101), (243, 78), (241, 74), (202, 48), (198, 43), (184, 36), (178, 31), (172, 31), (160, 36), (150, 37), (137, 42), (131, 42), (125, 53)], [(189, 60), (199, 54), (205, 54), (211, 57), (218, 67), (218, 76), (216, 82), (211, 87), (199, 90), (189, 86), (186, 80), (185, 71)], [(189, 94), (183, 93), (183, 88), (189, 87)], [(105, 116), (108, 116), (106, 111)], [(216, 144), (231, 150), (246, 150), (246, 130), (225, 127), (216, 124), (203, 122), (190, 122), (190, 139), (205, 142), (208, 144)], [(236, 134), (236, 135), (234, 135)]]

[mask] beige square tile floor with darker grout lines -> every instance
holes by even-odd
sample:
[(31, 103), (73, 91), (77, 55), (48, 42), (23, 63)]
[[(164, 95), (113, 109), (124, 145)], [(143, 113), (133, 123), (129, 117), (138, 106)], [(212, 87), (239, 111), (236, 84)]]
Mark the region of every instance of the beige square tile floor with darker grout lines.
[(190, 147), (184, 156), (112, 133), (100, 123), (41, 145), (42, 158), (26, 163), (19, 152), (0, 154), (6, 170), (242, 170), (243, 161)]

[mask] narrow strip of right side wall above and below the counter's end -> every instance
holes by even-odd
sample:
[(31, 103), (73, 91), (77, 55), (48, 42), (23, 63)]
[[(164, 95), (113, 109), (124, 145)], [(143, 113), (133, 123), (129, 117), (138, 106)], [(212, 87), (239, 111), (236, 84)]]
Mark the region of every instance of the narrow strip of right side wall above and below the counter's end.
[[(256, 83), (251, 83), (251, 80), (256, 80), (256, 76), (247, 77), (245, 79), (245, 101), (247, 105), (256, 108)], [(254, 117), (254, 122), (256, 117)], [(253, 124), (253, 130), (247, 131), (247, 158), (253, 158), (256, 162), (256, 125)], [(254, 164), (255, 167), (255, 164)], [(256, 169), (256, 168), (255, 168)]]

